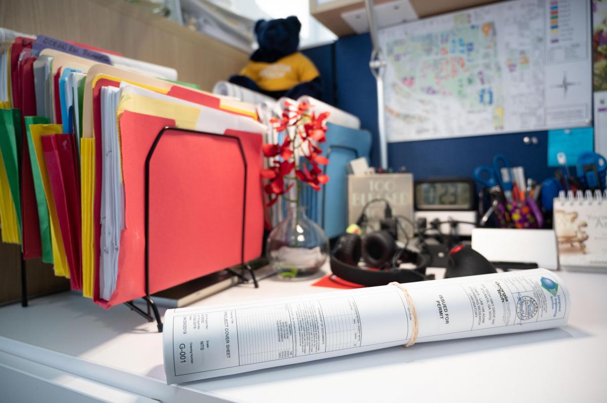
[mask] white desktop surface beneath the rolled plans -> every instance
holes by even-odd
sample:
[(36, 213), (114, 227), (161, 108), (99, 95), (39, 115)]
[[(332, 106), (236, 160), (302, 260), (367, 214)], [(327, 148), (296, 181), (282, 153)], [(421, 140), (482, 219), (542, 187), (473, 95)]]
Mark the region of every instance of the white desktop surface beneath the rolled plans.
[[(557, 274), (572, 296), (563, 328), (386, 348), (185, 385), (164, 382), (155, 323), (126, 305), (103, 310), (73, 293), (0, 308), (0, 351), (162, 402), (605, 402), (607, 274)], [(258, 289), (239, 285), (197, 304), (331, 290), (311, 287), (314, 280), (266, 279)]]

